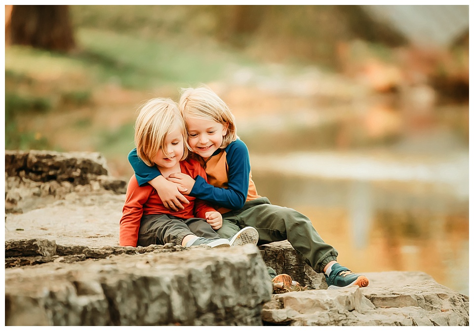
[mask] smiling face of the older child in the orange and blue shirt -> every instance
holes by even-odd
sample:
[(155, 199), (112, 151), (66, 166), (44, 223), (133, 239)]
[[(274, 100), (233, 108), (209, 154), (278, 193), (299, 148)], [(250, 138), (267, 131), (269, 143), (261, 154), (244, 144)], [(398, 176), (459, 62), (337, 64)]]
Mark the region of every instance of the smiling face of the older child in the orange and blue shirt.
[(209, 119), (191, 117), (188, 125), (188, 144), (193, 152), (203, 158), (210, 157), (222, 145), (227, 126)]

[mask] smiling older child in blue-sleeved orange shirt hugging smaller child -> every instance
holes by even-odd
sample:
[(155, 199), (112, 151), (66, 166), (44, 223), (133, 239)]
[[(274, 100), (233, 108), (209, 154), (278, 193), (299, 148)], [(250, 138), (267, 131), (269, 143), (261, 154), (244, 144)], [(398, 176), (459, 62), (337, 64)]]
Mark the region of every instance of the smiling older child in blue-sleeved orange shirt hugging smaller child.
[(183, 208), (181, 202), (186, 205), (181, 192), (215, 205), (222, 213), (224, 225), (218, 233), (223, 237), (251, 226), (258, 231), (259, 245), (288, 240), (316, 272), (324, 273), (329, 288), (368, 285), (365, 276), (337, 263), (337, 251), (322, 240), (305, 215), (272, 205), (257, 194), (248, 149), (238, 139), (234, 115), (221, 98), (206, 86), (183, 89), (179, 109), (186, 122), (191, 158), (203, 166), (208, 183), (204, 177), (185, 174), (171, 174), (166, 180), (132, 150), (128, 160), (141, 184), (157, 187), (172, 209)]

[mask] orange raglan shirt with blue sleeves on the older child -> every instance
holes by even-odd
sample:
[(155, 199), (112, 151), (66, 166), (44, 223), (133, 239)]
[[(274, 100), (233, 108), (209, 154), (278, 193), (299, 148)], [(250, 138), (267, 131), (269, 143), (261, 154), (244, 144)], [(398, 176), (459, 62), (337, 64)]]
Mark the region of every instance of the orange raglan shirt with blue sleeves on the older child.
[[(240, 209), (245, 201), (260, 197), (252, 181), (248, 149), (241, 140), (217, 149), (207, 160), (197, 154), (190, 155), (188, 159), (197, 160), (207, 175), (207, 181), (203, 176), (191, 176), (196, 183), (189, 196), (208, 201), (219, 213)], [(147, 166), (138, 157), (136, 148), (128, 154), (128, 161), (139, 185), (145, 185), (161, 175), (158, 168)]]

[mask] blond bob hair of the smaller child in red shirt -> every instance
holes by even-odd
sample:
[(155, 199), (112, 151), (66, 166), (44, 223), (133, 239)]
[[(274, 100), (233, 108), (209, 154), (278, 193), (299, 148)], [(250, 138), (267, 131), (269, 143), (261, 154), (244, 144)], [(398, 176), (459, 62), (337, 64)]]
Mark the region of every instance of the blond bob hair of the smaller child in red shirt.
[[(135, 145), (137, 155), (148, 166), (154, 166), (153, 159), (165, 145), (168, 133), (179, 129), (183, 133), (184, 153), (180, 161), (188, 157), (189, 145), (183, 116), (176, 103), (168, 98), (155, 98), (141, 108), (135, 122)], [(166, 148), (163, 154), (169, 157)]]

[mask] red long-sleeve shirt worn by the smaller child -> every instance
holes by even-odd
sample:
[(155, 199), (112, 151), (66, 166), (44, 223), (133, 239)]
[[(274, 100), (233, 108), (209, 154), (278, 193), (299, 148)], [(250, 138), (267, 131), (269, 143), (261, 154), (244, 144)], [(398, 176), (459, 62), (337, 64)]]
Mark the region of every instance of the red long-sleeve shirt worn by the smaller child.
[[(197, 175), (207, 180), (206, 172), (201, 165), (193, 159), (187, 159), (180, 162), (181, 172), (192, 178)], [(143, 215), (150, 214), (168, 214), (181, 219), (190, 219), (193, 217), (205, 219), (205, 213), (215, 211), (206, 202), (195, 197), (185, 195), (189, 204), (183, 204), (184, 209), (177, 212), (168, 210), (164, 207), (158, 193), (152, 185), (146, 184), (138, 186), (135, 175), (132, 175), (128, 182), (125, 204), (122, 209), (122, 218), (119, 227), (120, 246), (137, 246), (138, 229)]]

